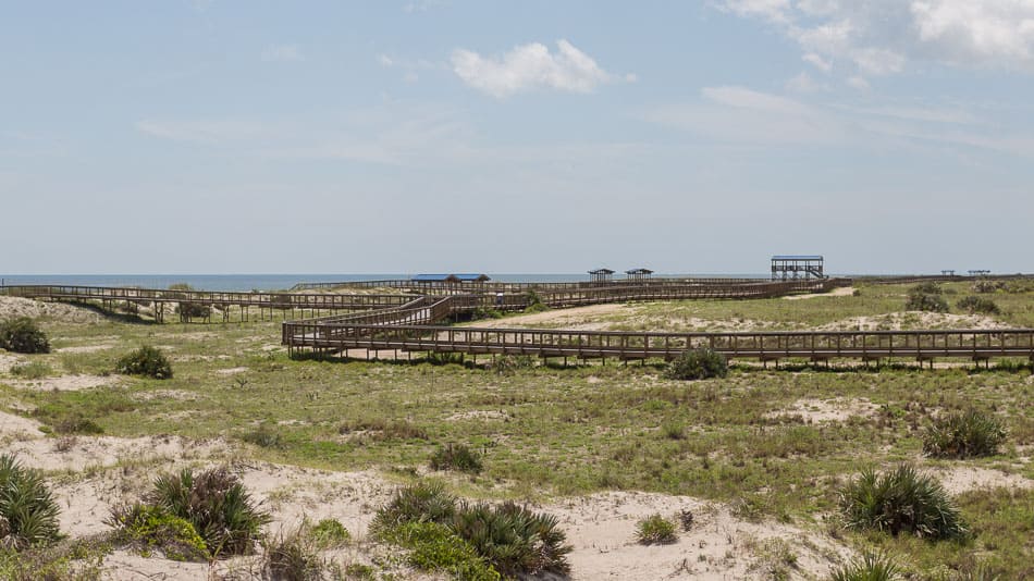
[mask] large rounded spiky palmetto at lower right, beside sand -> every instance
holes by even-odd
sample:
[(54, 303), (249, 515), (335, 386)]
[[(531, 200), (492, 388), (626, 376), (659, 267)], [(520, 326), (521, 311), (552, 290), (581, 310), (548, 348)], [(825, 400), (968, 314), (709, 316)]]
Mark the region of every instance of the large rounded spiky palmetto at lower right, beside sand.
[(883, 474), (863, 470), (840, 492), (840, 510), (850, 529), (933, 540), (967, 534), (959, 509), (940, 483), (904, 463)]

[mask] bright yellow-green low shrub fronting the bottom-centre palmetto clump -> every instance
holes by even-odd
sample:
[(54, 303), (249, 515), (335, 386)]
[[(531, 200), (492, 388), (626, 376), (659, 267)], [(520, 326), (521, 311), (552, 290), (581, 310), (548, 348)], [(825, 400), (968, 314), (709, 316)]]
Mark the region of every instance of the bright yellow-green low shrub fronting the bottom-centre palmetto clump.
[(443, 571), (454, 579), (497, 581), (500, 573), (475, 547), (448, 527), (435, 522), (407, 522), (383, 531), (380, 539), (409, 549), (409, 565)]

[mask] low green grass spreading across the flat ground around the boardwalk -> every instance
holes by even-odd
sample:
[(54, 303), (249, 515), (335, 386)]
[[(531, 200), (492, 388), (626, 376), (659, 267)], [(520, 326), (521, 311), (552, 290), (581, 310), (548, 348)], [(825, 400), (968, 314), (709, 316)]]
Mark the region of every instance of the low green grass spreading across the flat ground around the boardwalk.
[[(968, 285), (945, 286), (957, 286), (955, 296), (970, 292)], [(668, 329), (694, 317), (749, 319), (774, 329), (818, 325), (898, 312), (907, 289), (864, 286), (859, 297), (808, 300), (641, 304), (632, 307), (641, 319), (614, 324)], [(1034, 295), (993, 296), (1002, 310), (997, 320), (1034, 326)], [(488, 460), (480, 474), (451, 481), (451, 487), (475, 498), (641, 490), (729, 503), (751, 519), (817, 527), (824, 515), (836, 511), (837, 490), (860, 465), (908, 460), (1034, 478), (1029, 461), (1034, 383), (1025, 372), (787, 372), (734, 364), (724, 379), (679, 382), (664, 376), (661, 361), (515, 366), (500, 373), (458, 364), (291, 360), (279, 348), (276, 323), (48, 322), (44, 329), (56, 347), (111, 345), (93, 353), (28, 356), (56, 372), (111, 372), (120, 355), (149, 344), (170, 357), (175, 375), (119, 378), (104, 387), (53, 392), (14, 388), (4, 384), (16, 378), (0, 374), (4, 411), (35, 409), (21, 413), (52, 429), (70, 419), (89, 420), (114, 436), (250, 440), (248, 449), (258, 459), (332, 470), (404, 474), (423, 469), (440, 443), (464, 442), (483, 450)], [(231, 368), (247, 369), (220, 373)], [(771, 415), (801, 399), (832, 398), (865, 399), (879, 409), (845, 422)], [(930, 418), (973, 407), (994, 410), (1002, 422), (1008, 440), (999, 454), (964, 461), (923, 459)], [(918, 571), (943, 561), (961, 567), (974, 554), (986, 554), (1004, 579), (1015, 578), (1025, 569), (1011, 555), (1032, 551), (1031, 493), (1015, 494), (1012, 504), (998, 492), (958, 495), (974, 533), (970, 545), (932, 545), (903, 535), (891, 542), (864, 533), (846, 533), (846, 541), (887, 546), (903, 557), (897, 561), (918, 564)]]

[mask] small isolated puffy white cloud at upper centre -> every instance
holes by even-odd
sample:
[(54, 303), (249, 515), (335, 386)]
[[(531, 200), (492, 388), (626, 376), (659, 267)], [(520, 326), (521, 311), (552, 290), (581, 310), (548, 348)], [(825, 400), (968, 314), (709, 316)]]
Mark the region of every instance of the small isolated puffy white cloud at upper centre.
[(456, 49), (453, 72), (468, 86), (496, 98), (532, 89), (591, 92), (614, 75), (600, 67), (567, 40), (556, 42), (557, 51), (539, 42), (515, 47), (502, 57), (482, 57)]

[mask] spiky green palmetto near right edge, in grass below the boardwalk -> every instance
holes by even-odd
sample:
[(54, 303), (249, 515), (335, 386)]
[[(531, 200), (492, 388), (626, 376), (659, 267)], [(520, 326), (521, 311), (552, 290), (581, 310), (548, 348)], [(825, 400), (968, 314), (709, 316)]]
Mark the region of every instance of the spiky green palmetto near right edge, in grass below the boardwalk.
[(992, 456), (1006, 437), (1001, 422), (976, 410), (934, 420), (923, 435), (923, 453), (938, 458)]

